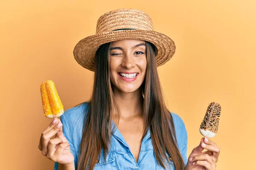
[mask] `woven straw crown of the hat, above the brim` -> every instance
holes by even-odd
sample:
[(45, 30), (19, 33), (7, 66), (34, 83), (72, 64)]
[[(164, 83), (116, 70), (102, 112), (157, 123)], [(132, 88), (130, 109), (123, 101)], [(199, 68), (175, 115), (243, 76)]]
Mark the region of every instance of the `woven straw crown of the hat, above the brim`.
[(96, 34), (125, 28), (146, 31), (154, 30), (151, 18), (144, 12), (117, 11), (116, 13), (102, 15), (99, 18), (96, 26)]

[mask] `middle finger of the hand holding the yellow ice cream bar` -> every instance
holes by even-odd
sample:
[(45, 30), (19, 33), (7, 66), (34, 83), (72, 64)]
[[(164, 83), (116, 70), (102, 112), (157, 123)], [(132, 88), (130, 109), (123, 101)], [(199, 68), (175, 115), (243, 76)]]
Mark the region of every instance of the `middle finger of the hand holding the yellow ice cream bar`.
[(61, 126), (62, 126), (61, 123), (56, 124), (51, 130), (49, 130), (47, 133), (45, 133), (42, 136), (42, 154), (44, 156), (47, 155), (47, 145), (50, 138), (54, 136), (58, 132), (58, 130), (60, 130)]

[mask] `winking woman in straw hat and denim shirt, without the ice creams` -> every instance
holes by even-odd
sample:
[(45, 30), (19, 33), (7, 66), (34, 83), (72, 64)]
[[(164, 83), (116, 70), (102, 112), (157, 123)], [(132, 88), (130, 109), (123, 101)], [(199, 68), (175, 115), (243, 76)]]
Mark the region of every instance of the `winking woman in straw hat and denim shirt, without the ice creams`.
[(174, 42), (153, 31), (143, 11), (102, 15), (96, 34), (74, 49), (76, 61), (95, 71), (90, 101), (41, 135), (38, 147), (55, 170), (215, 170), (219, 147), (202, 138), (187, 160), (185, 125), (164, 103), (157, 66), (174, 53)]

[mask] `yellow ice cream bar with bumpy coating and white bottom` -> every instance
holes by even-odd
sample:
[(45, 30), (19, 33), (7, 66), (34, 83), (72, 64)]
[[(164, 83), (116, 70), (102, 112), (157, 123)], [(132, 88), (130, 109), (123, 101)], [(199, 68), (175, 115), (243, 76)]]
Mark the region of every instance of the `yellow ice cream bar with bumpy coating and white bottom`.
[(48, 118), (59, 117), (63, 114), (64, 109), (61, 99), (58, 96), (54, 82), (47, 80), (40, 86), (44, 116)]

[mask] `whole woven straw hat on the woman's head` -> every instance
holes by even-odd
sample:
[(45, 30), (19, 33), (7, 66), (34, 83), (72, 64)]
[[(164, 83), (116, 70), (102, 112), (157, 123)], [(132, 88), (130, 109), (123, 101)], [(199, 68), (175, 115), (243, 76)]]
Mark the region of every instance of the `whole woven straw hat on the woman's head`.
[(100, 45), (107, 42), (133, 39), (153, 43), (157, 48), (157, 66), (163, 65), (175, 53), (171, 38), (154, 31), (151, 17), (138, 9), (117, 9), (99, 17), (96, 34), (80, 40), (73, 51), (76, 61), (84, 68), (94, 71), (95, 54)]

